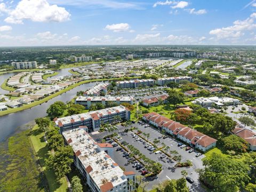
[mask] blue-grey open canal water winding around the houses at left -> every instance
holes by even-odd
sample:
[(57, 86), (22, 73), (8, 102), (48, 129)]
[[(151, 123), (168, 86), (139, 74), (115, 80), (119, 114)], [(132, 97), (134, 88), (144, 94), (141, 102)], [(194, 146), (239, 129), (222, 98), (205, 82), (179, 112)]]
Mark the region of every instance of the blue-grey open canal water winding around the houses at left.
[[(59, 76), (67, 76), (69, 75), (68, 72), (69, 69), (60, 69), (58, 72)], [(17, 73), (9, 73), (0, 75), (0, 83), (2, 84), (6, 78), (9, 78), (10, 76), (13, 76)], [(32, 121), (34, 121), (37, 117), (44, 117), (46, 116), (46, 110), (47, 108), (54, 103), (55, 101), (63, 101), (67, 102), (71, 99), (73, 99), (78, 91), (86, 91), (87, 89), (90, 89), (95, 84), (99, 82), (93, 82), (93, 83), (86, 83), (83, 85), (79, 85), (75, 87), (72, 90), (67, 91), (66, 93), (62, 93), (61, 95), (58, 95), (57, 97), (42, 103), (41, 105), (35, 106), (30, 109), (22, 110), (17, 113), (4, 115), (0, 117), (0, 142), (4, 141), (5, 139), (11, 137), (13, 134), (23, 131), (25, 129), (28, 129), (29, 126), (25, 126), (25, 124), (28, 124)], [(0, 94), (6, 94), (8, 91), (5, 92), (5, 90), (2, 90), (0, 88)]]

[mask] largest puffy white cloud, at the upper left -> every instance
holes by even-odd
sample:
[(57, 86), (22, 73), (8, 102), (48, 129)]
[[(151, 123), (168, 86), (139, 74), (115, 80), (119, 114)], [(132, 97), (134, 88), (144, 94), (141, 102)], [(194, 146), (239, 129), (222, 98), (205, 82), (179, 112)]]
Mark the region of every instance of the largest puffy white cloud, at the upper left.
[(46, 0), (21, 0), (14, 10), (8, 12), (9, 17), (4, 21), (23, 23), (23, 20), (36, 22), (63, 22), (70, 18), (64, 7), (50, 5)]

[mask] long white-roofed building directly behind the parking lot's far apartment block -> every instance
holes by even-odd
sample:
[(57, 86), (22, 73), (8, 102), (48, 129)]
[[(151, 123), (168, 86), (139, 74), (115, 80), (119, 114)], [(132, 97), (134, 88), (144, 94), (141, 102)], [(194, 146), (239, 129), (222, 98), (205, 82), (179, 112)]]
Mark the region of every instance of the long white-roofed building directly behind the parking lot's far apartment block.
[(79, 96), (76, 98), (75, 103), (85, 106), (86, 109), (90, 109), (92, 105), (96, 103), (101, 103), (103, 106), (108, 106), (108, 103), (116, 103), (120, 105), (121, 103), (130, 103), (133, 105), (133, 97), (111, 97), (106, 95), (105, 97), (83, 97)]

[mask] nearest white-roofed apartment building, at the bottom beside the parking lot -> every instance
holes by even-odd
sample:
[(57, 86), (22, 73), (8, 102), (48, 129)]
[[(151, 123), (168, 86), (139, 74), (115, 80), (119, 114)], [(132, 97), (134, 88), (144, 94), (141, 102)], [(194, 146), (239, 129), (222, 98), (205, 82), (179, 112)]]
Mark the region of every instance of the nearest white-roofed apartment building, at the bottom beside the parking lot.
[[(135, 172), (123, 171), (113, 161), (113, 146), (109, 143), (97, 143), (79, 127), (62, 133), (66, 145), (74, 151), (74, 164), (83, 175), (86, 184), (93, 192), (120, 191), (135, 189)], [(133, 185), (129, 189), (129, 181)]]

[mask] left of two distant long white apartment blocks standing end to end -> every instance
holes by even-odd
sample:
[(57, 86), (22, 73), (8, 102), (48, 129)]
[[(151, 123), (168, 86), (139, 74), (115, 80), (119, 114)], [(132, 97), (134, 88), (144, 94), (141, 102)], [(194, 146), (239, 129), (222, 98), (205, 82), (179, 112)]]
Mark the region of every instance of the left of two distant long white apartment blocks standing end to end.
[(135, 79), (130, 81), (116, 82), (116, 86), (120, 89), (134, 89), (137, 87), (153, 86), (154, 84), (155, 80), (153, 79)]

